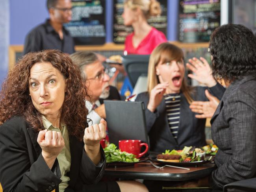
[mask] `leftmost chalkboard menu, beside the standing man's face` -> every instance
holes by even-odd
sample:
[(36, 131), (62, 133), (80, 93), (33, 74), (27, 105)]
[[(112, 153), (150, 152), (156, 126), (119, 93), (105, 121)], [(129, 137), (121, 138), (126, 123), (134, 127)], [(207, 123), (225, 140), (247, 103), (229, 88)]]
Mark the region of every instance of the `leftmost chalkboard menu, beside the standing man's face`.
[(72, 21), (65, 28), (76, 45), (104, 44), (106, 39), (105, 1), (72, 0)]

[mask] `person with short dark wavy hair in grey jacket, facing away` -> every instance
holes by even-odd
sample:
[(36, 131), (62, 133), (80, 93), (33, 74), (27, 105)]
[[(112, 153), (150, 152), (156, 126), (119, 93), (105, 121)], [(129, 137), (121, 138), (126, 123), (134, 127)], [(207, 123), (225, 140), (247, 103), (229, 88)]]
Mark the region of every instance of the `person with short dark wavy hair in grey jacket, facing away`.
[(213, 75), (227, 89), (211, 119), (219, 147), (210, 186), (256, 177), (256, 37), (242, 25), (227, 24), (211, 35)]

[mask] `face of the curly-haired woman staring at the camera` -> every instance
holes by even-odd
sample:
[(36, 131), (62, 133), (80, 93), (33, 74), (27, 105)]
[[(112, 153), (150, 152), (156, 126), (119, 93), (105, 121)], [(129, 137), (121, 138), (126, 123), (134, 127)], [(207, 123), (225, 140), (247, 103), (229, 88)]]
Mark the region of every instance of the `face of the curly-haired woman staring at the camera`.
[(65, 88), (64, 76), (51, 63), (35, 63), (32, 66), (29, 78), (31, 100), (46, 118), (59, 118)]

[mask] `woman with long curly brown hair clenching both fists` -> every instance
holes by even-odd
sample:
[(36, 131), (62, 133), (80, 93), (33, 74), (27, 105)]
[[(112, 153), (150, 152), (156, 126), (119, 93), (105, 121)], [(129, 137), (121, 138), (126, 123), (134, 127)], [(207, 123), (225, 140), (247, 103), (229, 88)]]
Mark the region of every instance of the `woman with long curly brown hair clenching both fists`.
[(106, 166), (106, 122), (87, 127), (86, 96), (80, 70), (62, 52), (19, 60), (0, 93), (4, 191), (120, 191), (115, 181), (97, 183)]

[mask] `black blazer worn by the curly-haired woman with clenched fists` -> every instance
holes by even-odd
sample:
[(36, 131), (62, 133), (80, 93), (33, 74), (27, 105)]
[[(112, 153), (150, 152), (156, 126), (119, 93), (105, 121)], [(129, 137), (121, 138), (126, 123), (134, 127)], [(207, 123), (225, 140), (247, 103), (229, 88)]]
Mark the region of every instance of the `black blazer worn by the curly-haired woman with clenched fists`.
[[(0, 126), (0, 183), (5, 192), (45, 192), (56, 189), (61, 183), (61, 173), (56, 159), (52, 170), (41, 155), (37, 143), (38, 133), (22, 117), (15, 116)], [(65, 192), (86, 188), (85, 184), (98, 182), (106, 166), (101, 148), (101, 167), (89, 159), (83, 150), (83, 142), (69, 136), (71, 166), (69, 186)]]

